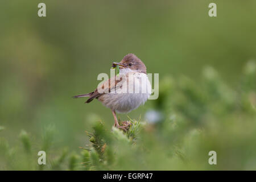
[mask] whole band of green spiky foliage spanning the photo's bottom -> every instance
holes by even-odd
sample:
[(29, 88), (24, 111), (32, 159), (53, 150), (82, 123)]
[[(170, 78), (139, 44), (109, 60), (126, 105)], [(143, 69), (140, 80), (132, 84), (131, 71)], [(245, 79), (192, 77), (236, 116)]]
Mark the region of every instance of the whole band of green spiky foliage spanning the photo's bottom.
[[(41, 144), (23, 130), (16, 146), (0, 138), (1, 169), (256, 169), (255, 62), (237, 83), (226, 84), (212, 67), (198, 82), (161, 78), (159, 99), (147, 102), (146, 117), (129, 119), (128, 131), (95, 122), (84, 138), (90, 144), (77, 153), (54, 148), (54, 127), (46, 127)], [(36, 156), (41, 148), (48, 152), (43, 167)], [(217, 165), (208, 163), (209, 151), (216, 151)]]

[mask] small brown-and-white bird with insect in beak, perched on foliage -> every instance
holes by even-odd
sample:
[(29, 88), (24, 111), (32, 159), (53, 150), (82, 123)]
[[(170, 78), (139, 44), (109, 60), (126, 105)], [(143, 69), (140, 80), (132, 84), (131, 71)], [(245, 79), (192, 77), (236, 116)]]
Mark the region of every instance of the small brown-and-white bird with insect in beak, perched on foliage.
[(131, 125), (123, 122), (119, 125), (116, 113), (129, 113), (143, 105), (151, 95), (151, 84), (147, 77), (144, 63), (133, 53), (124, 56), (113, 67), (119, 67), (119, 74), (102, 82), (90, 93), (73, 96), (73, 98), (89, 97), (85, 103), (94, 99), (111, 109), (114, 117), (114, 126), (127, 131)]

